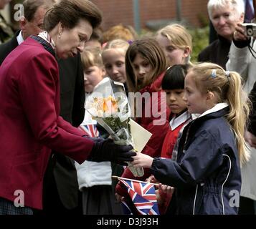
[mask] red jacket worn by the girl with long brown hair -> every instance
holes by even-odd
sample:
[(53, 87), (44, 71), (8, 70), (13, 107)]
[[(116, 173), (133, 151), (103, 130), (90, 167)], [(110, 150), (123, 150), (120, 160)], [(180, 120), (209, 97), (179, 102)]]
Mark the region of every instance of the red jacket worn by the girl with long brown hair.
[[(166, 105), (166, 97), (161, 97), (161, 92), (163, 91), (160, 90), (164, 73), (165, 72), (163, 72), (150, 86), (147, 86), (140, 91), (141, 94), (149, 92), (149, 94), (151, 95), (149, 99), (145, 99), (142, 102), (142, 117), (136, 118), (136, 122), (152, 134), (146, 147), (142, 151), (142, 153), (150, 155), (151, 157), (160, 157), (163, 140), (169, 130), (168, 120), (170, 115), (170, 109)], [(153, 92), (157, 94), (157, 97), (152, 96)], [(153, 108), (155, 104), (157, 104), (157, 111), (159, 117), (162, 117), (161, 125), (156, 125), (156, 123), (154, 123), (156, 120), (159, 120), (159, 117), (156, 117), (157, 115), (155, 109)], [(146, 112), (150, 112), (150, 117), (146, 117), (148, 116), (146, 115)], [(144, 173), (145, 174), (143, 175), (143, 177), (134, 177), (132, 172), (128, 168), (126, 168), (123, 172), (122, 177), (135, 180), (146, 180), (146, 178), (149, 177), (151, 173), (148, 169), (145, 168)], [(115, 191), (122, 196), (128, 195), (125, 187), (120, 185), (120, 182), (118, 182)]]

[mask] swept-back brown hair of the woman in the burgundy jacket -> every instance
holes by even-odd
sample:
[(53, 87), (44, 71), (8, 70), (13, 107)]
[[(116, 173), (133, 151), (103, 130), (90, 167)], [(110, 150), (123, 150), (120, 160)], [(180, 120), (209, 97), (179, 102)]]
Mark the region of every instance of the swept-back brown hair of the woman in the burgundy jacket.
[(51, 31), (59, 22), (68, 29), (72, 29), (77, 26), (80, 19), (87, 20), (95, 29), (100, 25), (102, 15), (98, 7), (91, 1), (57, 1), (44, 16), (44, 29)]

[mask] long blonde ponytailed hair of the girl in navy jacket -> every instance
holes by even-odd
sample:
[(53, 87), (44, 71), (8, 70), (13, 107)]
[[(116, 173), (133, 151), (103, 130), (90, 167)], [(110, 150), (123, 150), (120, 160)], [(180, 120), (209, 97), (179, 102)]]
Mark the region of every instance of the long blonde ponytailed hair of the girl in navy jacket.
[(242, 89), (240, 74), (226, 72), (219, 65), (212, 63), (195, 64), (189, 71), (193, 72), (191, 77), (202, 93), (214, 92), (218, 103), (229, 104), (229, 114), (226, 118), (237, 140), (240, 164), (244, 164), (250, 159), (243, 137), (250, 112), (250, 102)]

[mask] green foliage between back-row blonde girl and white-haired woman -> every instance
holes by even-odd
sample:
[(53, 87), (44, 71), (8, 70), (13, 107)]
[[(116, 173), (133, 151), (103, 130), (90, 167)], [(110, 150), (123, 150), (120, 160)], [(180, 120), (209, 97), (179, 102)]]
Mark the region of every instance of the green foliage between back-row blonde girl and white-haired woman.
[(204, 28), (189, 29), (193, 37), (193, 52), (191, 62), (197, 62), (198, 54), (209, 45), (209, 26)]

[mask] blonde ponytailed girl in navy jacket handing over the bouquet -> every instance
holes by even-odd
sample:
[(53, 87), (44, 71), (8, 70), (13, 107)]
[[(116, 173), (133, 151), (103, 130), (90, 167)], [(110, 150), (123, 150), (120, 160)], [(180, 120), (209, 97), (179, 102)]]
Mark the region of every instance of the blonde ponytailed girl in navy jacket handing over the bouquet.
[(243, 138), (249, 112), (240, 74), (217, 64), (196, 64), (185, 78), (184, 99), (200, 116), (184, 128), (177, 160), (134, 157), (157, 180), (176, 187), (176, 214), (237, 214), (240, 165), (249, 155)]

